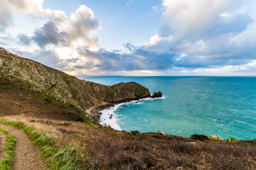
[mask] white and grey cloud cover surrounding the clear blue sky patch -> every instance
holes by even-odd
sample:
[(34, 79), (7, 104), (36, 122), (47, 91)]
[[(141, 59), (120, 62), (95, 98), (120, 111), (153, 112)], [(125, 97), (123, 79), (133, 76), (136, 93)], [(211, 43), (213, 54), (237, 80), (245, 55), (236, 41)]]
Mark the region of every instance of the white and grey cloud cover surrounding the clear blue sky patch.
[[(252, 1), (163, 0), (153, 7), (162, 12), (159, 32), (144, 45), (125, 43), (125, 50), (99, 46), (93, 35), (101, 29), (101, 21), (89, 7), (79, 6), (68, 18), (61, 10), (43, 9), (42, 2), (4, 0), (6, 8), (0, 9), (8, 20), (0, 19), (0, 30), (15, 25), (14, 10), (36, 20), (43, 18), (45, 22), (33, 32), (18, 32), (20, 44), (10, 51), (68, 73), (256, 72), (256, 16), (244, 10), (253, 6)], [(0, 42), (6, 44), (5, 40)]]

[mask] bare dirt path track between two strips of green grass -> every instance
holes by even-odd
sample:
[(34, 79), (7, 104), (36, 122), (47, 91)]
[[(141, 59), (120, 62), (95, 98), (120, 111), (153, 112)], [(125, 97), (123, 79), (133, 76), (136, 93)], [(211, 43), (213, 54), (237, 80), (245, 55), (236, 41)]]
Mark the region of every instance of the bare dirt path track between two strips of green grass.
[(11, 165), (12, 170), (47, 169), (43, 160), (40, 158), (40, 153), (36, 150), (31, 140), (22, 130), (3, 124), (0, 124), (0, 127), (5, 128), (8, 133), (13, 133), (17, 138)]

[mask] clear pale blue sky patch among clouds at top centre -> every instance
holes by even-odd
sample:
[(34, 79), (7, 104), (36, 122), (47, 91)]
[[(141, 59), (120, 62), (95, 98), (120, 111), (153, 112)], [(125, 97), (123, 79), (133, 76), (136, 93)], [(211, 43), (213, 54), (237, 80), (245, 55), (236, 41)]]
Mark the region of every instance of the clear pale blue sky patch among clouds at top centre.
[(123, 44), (133, 42), (143, 45), (149, 37), (159, 31), (161, 13), (153, 6), (161, 5), (161, 0), (44, 0), (43, 7), (64, 10), (67, 16), (85, 4), (100, 18), (102, 30), (97, 32), (99, 44), (109, 50), (123, 49)]

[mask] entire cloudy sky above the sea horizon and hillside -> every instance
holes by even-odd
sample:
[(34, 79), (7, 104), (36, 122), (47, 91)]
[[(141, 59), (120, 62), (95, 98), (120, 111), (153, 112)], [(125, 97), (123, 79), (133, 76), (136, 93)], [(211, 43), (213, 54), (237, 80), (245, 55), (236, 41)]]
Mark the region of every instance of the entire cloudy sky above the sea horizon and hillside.
[(70, 75), (255, 76), (253, 0), (1, 0), (0, 47)]

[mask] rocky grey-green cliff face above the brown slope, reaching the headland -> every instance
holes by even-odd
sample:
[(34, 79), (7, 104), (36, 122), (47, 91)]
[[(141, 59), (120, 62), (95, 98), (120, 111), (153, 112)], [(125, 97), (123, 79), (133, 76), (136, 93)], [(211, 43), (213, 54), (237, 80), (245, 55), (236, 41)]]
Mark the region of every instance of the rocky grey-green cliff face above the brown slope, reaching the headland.
[(25, 88), (54, 97), (59, 102), (72, 105), (83, 112), (91, 106), (105, 102), (150, 97), (149, 90), (136, 82), (106, 86), (80, 80), (0, 48), (0, 83), (5, 80), (25, 82)]

